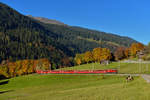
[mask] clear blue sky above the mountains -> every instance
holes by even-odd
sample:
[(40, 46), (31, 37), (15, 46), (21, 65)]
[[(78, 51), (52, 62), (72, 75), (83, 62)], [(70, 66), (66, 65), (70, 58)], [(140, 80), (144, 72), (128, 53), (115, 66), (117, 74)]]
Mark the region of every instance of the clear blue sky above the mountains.
[(149, 0), (0, 0), (24, 15), (150, 42)]

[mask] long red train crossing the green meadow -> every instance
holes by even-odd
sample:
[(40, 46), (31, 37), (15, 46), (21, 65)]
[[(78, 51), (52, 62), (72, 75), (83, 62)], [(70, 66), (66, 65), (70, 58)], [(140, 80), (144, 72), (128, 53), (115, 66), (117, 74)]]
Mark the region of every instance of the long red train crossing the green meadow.
[(107, 69), (107, 70), (37, 70), (38, 74), (117, 74), (116, 69)]

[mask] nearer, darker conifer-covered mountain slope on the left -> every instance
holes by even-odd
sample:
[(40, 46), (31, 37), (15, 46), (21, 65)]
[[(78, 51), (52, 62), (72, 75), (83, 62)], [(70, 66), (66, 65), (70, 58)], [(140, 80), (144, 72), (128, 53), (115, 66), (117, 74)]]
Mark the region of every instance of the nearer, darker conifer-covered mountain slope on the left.
[(61, 64), (69, 51), (55, 41), (57, 34), (0, 3), (0, 61), (48, 58)]

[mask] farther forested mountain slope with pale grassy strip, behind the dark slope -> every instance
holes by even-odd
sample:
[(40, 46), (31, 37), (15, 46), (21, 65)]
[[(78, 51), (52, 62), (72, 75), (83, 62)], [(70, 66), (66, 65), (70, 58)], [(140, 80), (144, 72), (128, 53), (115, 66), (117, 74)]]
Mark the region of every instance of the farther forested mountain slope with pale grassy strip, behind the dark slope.
[[(38, 20), (35, 17), (31, 18)], [(41, 20), (38, 21), (43, 23), (42, 25), (47, 27), (48, 30), (54, 32), (58, 36), (61, 36), (57, 39), (59, 43), (67, 46), (70, 50), (73, 50), (73, 52), (85, 52), (96, 47), (109, 48), (112, 52), (114, 52), (118, 46), (129, 47), (132, 43), (137, 42), (129, 37), (123, 37), (106, 32), (68, 25), (54, 25), (51, 23), (45, 23)]]

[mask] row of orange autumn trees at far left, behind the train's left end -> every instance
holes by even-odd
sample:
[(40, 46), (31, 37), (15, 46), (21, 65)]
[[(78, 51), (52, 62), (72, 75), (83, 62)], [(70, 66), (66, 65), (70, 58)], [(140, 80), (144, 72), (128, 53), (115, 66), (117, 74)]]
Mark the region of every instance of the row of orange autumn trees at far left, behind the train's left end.
[(7, 62), (5, 65), (1, 65), (0, 74), (5, 77), (15, 77), (34, 73), (39, 64), (41, 65), (40, 70), (48, 70), (51, 67), (48, 59), (19, 60), (16, 62)]

